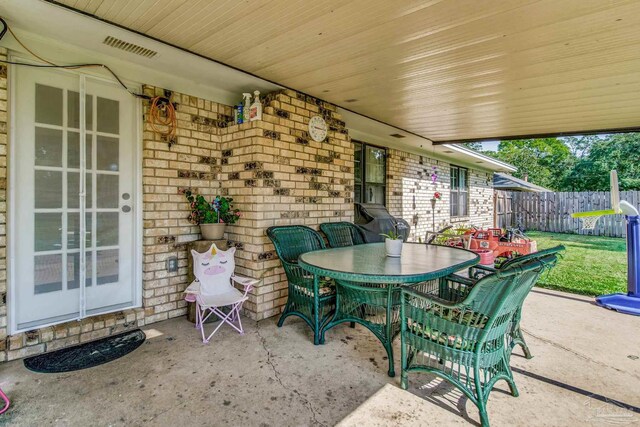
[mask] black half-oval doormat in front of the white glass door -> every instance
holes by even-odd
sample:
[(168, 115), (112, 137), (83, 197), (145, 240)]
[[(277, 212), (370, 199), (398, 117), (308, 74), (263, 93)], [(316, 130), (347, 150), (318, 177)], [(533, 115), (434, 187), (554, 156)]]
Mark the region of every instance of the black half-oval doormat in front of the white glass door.
[(131, 353), (145, 340), (140, 329), (24, 359), (34, 372), (56, 373), (92, 368)]

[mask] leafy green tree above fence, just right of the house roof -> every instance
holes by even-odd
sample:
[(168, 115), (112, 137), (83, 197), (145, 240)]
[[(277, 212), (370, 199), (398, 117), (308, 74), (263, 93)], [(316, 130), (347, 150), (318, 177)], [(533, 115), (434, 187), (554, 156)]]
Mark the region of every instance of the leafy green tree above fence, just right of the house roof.
[(575, 156), (558, 138), (537, 138), (500, 141), (494, 157), (517, 167), (514, 176), (560, 190), (567, 172), (575, 164)]

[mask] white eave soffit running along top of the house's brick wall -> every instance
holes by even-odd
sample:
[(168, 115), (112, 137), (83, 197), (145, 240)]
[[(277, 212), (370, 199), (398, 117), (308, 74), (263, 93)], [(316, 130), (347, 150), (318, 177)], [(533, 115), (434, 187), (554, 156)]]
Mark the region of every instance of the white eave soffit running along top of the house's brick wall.
[[(249, 89), (259, 89), (264, 93), (283, 88), (208, 58), (46, 2), (2, 0), (0, 14), (19, 31), (24, 42), (40, 54), (45, 52), (48, 59), (62, 63), (107, 63), (132, 84), (144, 82), (227, 105), (233, 105), (238, 101), (238, 94)], [(113, 49), (103, 44), (108, 35), (158, 53), (150, 60)], [(1, 44), (23, 52), (22, 47), (9, 36)], [(24, 57), (29, 56), (24, 53)], [(436, 146), (428, 138), (350, 109), (339, 108), (339, 112), (355, 139), (477, 169), (515, 170), (513, 166), (461, 146)]]

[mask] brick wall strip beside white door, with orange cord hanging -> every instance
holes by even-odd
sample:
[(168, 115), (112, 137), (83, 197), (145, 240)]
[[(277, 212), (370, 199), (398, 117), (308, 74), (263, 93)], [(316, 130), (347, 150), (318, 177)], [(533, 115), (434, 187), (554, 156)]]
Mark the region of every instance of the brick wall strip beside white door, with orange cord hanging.
[[(145, 86), (144, 93), (164, 96)], [(177, 140), (168, 141), (148, 123), (143, 133), (143, 294), (145, 323), (186, 313), (186, 243), (197, 240), (199, 228), (187, 220), (191, 212), (183, 191), (193, 189), (207, 198), (221, 193), (220, 131), (232, 120), (231, 108), (193, 96), (173, 93)], [(148, 103), (147, 103), (148, 104)], [(145, 116), (148, 105), (145, 105)], [(166, 260), (178, 258), (178, 271), (169, 273)]]

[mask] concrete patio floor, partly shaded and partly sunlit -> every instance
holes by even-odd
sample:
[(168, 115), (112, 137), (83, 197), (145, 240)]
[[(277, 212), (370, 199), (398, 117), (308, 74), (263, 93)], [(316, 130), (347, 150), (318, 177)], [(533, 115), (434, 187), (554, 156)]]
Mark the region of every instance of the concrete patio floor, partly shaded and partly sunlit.
[[(640, 425), (640, 318), (544, 289), (523, 316), (534, 358), (516, 350), (520, 397), (498, 383), (493, 425)], [(193, 324), (173, 319), (144, 328), (162, 335), (133, 353), (65, 374), (4, 363), (0, 385), (12, 406), (0, 424), (333, 426), (347, 416), (342, 425), (479, 424), (475, 406), (433, 376), (411, 376), (413, 395), (397, 388), (364, 328), (338, 326), (316, 347), (302, 321), (275, 322), (245, 320), (244, 336), (223, 328), (203, 345)]]

